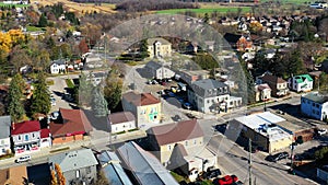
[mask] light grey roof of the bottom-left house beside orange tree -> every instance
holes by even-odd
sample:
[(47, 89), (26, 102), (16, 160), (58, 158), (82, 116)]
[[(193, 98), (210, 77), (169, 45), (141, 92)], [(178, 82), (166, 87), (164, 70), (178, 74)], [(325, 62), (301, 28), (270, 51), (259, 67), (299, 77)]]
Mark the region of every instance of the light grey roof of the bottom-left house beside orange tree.
[(75, 150), (49, 157), (49, 163), (59, 164), (62, 172), (98, 164), (91, 149)]

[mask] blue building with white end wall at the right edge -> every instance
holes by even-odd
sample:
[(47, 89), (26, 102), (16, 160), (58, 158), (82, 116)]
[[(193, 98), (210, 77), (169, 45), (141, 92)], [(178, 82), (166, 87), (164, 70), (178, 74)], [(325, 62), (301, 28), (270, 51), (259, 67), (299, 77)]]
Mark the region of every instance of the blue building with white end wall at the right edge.
[(318, 92), (307, 93), (301, 96), (301, 112), (309, 117), (327, 120), (328, 96)]

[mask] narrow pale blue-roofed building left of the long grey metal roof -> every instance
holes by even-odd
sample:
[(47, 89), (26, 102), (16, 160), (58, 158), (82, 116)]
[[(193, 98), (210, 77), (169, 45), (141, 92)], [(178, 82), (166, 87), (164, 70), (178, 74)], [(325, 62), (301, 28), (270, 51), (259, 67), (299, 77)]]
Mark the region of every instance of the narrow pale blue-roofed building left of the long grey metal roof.
[(104, 151), (97, 155), (105, 177), (112, 185), (132, 185), (115, 152)]

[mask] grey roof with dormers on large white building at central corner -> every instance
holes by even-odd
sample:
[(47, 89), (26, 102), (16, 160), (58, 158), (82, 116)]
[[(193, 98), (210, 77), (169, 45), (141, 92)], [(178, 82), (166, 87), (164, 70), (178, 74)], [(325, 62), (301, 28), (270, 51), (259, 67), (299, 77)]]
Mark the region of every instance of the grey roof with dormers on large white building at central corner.
[(213, 79), (198, 80), (191, 84), (192, 91), (202, 97), (214, 97), (230, 94), (227, 84)]

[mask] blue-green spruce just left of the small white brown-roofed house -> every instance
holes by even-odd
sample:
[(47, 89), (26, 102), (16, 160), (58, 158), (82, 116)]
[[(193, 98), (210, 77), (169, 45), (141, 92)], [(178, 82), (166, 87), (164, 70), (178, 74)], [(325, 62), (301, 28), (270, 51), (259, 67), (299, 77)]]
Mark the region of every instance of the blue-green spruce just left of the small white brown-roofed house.
[(93, 89), (91, 106), (96, 117), (103, 117), (108, 114), (107, 102), (99, 86)]

